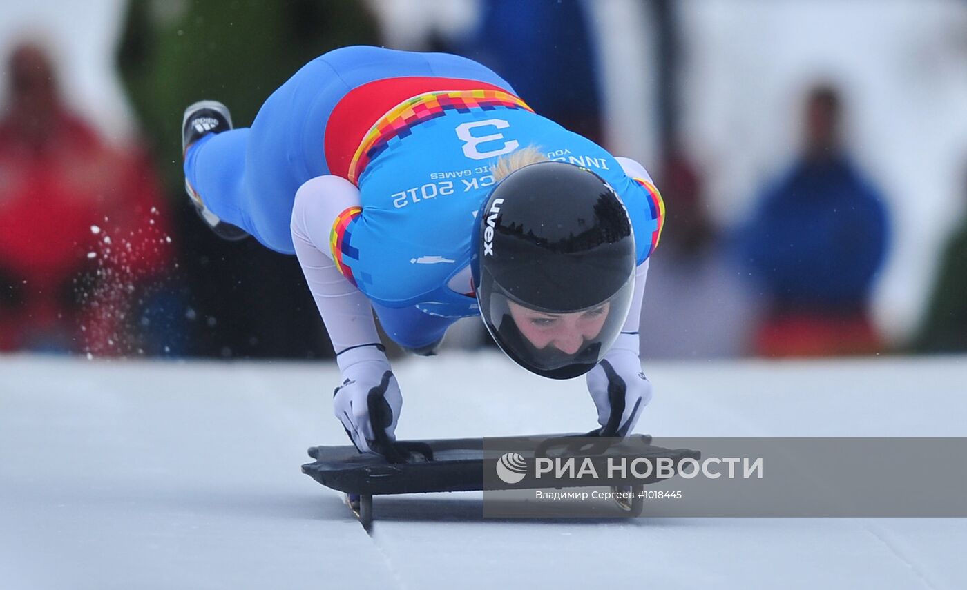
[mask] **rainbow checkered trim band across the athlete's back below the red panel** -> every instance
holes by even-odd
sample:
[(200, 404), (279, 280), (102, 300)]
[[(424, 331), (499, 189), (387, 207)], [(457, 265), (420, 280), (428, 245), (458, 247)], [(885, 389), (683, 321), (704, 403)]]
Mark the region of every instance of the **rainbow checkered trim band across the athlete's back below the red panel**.
[(430, 92), (407, 98), (390, 109), (375, 125), (369, 127), (366, 137), (363, 138), (363, 142), (356, 149), (356, 154), (349, 163), (349, 181), (354, 184), (359, 183), (366, 165), (386, 150), (391, 139), (409, 135), (410, 128), (413, 126), (441, 117), (448, 110), (468, 112), (475, 108), (492, 110), (500, 107), (522, 108), (534, 112), (520, 98), (499, 90)]

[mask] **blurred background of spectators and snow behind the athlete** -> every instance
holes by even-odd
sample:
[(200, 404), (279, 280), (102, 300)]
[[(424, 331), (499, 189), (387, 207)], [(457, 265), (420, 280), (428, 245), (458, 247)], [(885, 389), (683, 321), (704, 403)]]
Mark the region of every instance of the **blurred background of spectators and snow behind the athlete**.
[(965, 0), (0, 8), (0, 351), (331, 356), (295, 258), (197, 219), (180, 125), (348, 44), (477, 59), (645, 165), (646, 359), (967, 350)]

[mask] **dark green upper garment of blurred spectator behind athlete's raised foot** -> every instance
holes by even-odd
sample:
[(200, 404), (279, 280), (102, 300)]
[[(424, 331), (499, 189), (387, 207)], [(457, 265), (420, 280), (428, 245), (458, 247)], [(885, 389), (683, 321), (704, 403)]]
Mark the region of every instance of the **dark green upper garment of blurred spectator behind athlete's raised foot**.
[(177, 188), (181, 113), (191, 102), (220, 100), (236, 126), (249, 126), (262, 102), (309, 60), (374, 42), (376, 24), (361, 2), (132, 0), (118, 66), (165, 180)]

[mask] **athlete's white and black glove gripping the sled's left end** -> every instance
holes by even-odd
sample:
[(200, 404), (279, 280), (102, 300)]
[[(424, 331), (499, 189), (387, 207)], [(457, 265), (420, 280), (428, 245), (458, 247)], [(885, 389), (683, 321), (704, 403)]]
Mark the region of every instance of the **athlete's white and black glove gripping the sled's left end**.
[(374, 346), (341, 352), (342, 384), (333, 393), (333, 411), (361, 453), (398, 457), (396, 420), (403, 407), (399, 383), (386, 354)]

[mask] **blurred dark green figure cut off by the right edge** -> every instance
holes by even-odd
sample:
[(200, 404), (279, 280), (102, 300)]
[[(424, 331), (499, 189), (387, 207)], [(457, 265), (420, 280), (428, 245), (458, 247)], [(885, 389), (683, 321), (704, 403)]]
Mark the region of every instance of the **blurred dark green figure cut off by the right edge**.
[[(967, 175), (964, 181), (967, 195)], [(914, 348), (922, 352), (967, 351), (967, 214), (947, 242)]]

